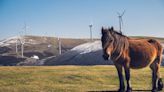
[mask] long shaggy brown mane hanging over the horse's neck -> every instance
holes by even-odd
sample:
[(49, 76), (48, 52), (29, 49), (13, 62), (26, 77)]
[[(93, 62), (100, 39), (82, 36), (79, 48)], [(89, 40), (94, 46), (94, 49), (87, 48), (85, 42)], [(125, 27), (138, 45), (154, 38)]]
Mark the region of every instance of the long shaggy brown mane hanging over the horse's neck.
[(114, 43), (113, 43), (113, 51), (111, 58), (113, 60), (118, 60), (122, 55), (123, 58), (125, 57), (125, 52), (129, 48), (129, 42), (128, 42), (128, 37), (123, 35), (122, 33), (119, 33), (118, 31), (114, 30), (113, 28), (108, 29), (114, 38)]

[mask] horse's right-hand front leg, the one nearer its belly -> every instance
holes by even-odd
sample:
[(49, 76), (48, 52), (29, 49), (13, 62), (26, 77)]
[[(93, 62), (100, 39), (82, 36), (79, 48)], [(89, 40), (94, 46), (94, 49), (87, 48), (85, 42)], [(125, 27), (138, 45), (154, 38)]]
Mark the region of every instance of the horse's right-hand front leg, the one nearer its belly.
[(130, 83), (130, 67), (129, 67), (129, 65), (126, 64), (124, 66), (124, 69), (125, 69), (125, 76), (126, 76), (126, 82), (127, 82), (126, 92), (132, 92), (131, 83)]

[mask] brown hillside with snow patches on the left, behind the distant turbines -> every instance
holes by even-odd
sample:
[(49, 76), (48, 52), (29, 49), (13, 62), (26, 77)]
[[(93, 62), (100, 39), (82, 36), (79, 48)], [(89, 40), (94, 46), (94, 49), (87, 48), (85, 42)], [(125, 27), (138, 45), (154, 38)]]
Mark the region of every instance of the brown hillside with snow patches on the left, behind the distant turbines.
[[(40, 59), (45, 59), (51, 56), (59, 55), (58, 38), (56, 37), (42, 37), (42, 36), (25, 36), (26, 43), (24, 44), (24, 56), (21, 58), (21, 45), (18, 44), (18, 57), (15, 51), (17, 37), (11, 37), (3, 42), (9, 45), (0, 45), (0, 65), (18, 65), (18, 63), (29, 61), (28, 58), (33, 55), (39, 56)], [(89, 39), (71, 39), (61, 38), (62, 53), (67, 52), (73, 47), (86, 43)], [(3, 46), (4, 45), (4, 46)], [(35, 61), (35, 60), (33, 60)]]

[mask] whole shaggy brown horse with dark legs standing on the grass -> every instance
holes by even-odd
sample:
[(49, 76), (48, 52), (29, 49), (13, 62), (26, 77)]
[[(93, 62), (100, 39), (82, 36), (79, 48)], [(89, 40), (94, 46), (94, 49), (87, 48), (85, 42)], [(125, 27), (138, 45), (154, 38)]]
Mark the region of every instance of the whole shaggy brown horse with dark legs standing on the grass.
[(111, 28), (102, 28), (103, 58), (113, 61), (119, 76), (119, 92), (125, 91), (122, 70), (125, 70), (127, 81), (126, 92), (131, 92), (130, 68), (139, 69), (150, 66), (152, 70), (152, 92), (162, 90), (163, 82), (160, 76), (162, 61), (162, 46), (154, 39), (133, 39)]

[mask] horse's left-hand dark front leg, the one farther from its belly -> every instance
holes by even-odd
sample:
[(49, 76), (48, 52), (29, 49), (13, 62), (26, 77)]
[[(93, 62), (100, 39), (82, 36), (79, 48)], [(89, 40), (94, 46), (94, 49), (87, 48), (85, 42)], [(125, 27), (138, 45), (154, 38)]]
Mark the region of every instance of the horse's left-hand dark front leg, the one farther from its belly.
[(120, 82), (120, 88), (118, 92), (124, 92), (125, 91), (125, 85), (124, 85), (124, 77), (122, 74), (122, 65), (115, 64), (117, 72), (118, 72), (118, 77), (119, 77), (119, 82)]

